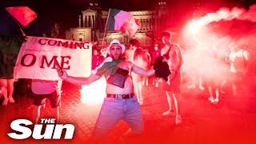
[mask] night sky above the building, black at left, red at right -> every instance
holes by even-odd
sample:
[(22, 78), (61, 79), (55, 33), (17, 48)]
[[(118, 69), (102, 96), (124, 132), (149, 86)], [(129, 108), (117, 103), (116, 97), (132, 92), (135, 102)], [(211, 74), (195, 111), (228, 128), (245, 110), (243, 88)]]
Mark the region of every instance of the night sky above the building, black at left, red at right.
[[(64, 30), (78, 26), (78, 16), (86, 10), (89, 2), (94, 0), (1, 0), (1, 8), (7, 6), (30, 6), (38, 14), (38, 18), (24, 28), (27, 33), (36, 31), (50, 31), (52, 22), (61, 22)], [(99, 0), (98, 4), (103, 10), (115, 8), (119, 10), (151, 10), (155, 0)], [(177, 11), (182, 17), (193, 14), (199, 7), (203, 14), (218, 10), (222, 6), (240, 6), (248, 8), (256, 3), (255, 0), (167, 0), (169, 8)], [(206, 10), (207, 9), (207, 10)], [(211, 11), (210, 11), (211, 10)]]

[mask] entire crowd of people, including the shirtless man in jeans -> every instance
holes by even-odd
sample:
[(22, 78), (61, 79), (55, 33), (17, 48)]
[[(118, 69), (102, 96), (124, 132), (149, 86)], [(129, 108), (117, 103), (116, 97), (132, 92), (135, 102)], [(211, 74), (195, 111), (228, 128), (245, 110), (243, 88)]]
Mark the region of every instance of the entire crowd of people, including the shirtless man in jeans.
[[(161, 38), (161, 45), (163, 46), (159, 48), (160, 43), (155, 43), (154, 49), (150, 51), (142, 47), (138, 39), (131, 39), (127, 47), (118, 39), (114, 39), (109, 46), (102, 46), (100, 50), (94, 48), (91, 63), (93, 72), (88, 78), (71, 77), (65, 70), (58, 68), (59, 77), (75, 85), (89, 85), (102, 76), (106, 78), (106, 98), (94, 126), (94, 140), (105, 138), (110, 129), (121, 119), (124, 119), (130, 126), (130, 130), (124, 135), (142, 134), (144, 129), (140, 109), (144, 101), (142, 89), (149, 83), (156, 87), (159, 86), (159, 82), (162, 83), (161, 86), (166, 90), (166, 102), (169, 105), (168, 110), (162, 115), (176, 116), (175, 124), (182, 124), (181, 84), (182, 76), (186, 73), (186, 69), (182, 69), (182, 48), (171, 42), (172, 34), (170, 31), (162, 32)], [(230, 52), (226, 54), (225, 60), (222, 61), (223, 65), (219, 62), (221, 58), (216, 57), (217, 50), (214, 47), (206, 51), (204, 53), (206, 57), (214, 59), (207, 61), (209, 67), (206, 71), (202, 72), (199, 69), (190, 75), (192, 84), (186, 87), (189, 89), (196, 88), (195, 80), (198, 78), (198, 88), (200, 90), (205, 90), (205, 87), (208, 88), (210, 102), (219, 102), (221, 94), (226, 93), (224, 87), (227, 82), (230, 82), (232, 94), (237, 96), (238, 82), (248, 82), (255, 77), (249, 50), (232, 46)], [(219, 67), (225, 67), (226, 71), (224, 72)], [(198, 68), (198, 65), (195, 64), (194, 68)], [(212, 73), (208, 73), (209, 71)], [(220, 77), (219, 74), (223, 74), (223, 77)], [(14, 81), (15, 78), (13, 77), (0, 79), (0, 94), (4, 97), (2, 106), (14, 102), (12, 97)], [(58, 122), (61, 85), (62, 81), (32, 80), (34, 122), (38, 122), (41, 107), (45, 105), (46, 98), (50, 99), (51, 112)]]

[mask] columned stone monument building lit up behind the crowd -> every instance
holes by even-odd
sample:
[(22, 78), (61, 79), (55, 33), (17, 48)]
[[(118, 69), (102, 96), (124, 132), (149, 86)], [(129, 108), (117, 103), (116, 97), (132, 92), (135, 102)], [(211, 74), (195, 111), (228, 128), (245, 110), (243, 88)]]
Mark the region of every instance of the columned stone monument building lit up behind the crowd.
[[(166, 10), (166, 2), (159, 1), (154, 7), (154, 10), (128, 11), (141, 22), (134, 38), (137, 38), (142, 46), (152, 46), (162, 30), (170, 30), (170, 13)], [(78, 27), (66, 31), (66, 39), (80, 42), (98, 41), (98, 47), (109, 45), (113, 38), (128, 44), (131, 39), (129, 35), (115, 30), (105, 31), (107, 16), (108, 10), (102, 10), (98, 3), (90, 3), (79, 16)], [(176, 34), (174, 29), (171, 31)]]

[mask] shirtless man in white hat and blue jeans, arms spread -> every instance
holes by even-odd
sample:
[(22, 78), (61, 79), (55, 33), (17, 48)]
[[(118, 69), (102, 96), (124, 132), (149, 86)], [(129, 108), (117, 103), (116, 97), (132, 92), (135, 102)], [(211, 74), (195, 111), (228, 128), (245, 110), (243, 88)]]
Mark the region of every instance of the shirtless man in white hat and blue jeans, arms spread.
[(87, 78), (71, 77), (65, 70), (62, 72), (58, 69), (58, 75), (63, 80), (76, 85), (89, 85), (101, 78), (102, 75), (106, 78), (106, 98), (94, 126), (92, 134), (94, 140), (105, 138), (106, 134), (121, 119), (129, 124), (133, 134), (142, 134), (142, 111), (137, 98), (134, 97), (134, 86), (130, 73), (133, 71), (135, 74), (151, 76), (154, 74), (154, 70), (143, 70), (132, 62), (125, 61), (122, 58), (124, 51), (125, 46), (114, 39), (107, 47), (110, 57), (106, 58)]

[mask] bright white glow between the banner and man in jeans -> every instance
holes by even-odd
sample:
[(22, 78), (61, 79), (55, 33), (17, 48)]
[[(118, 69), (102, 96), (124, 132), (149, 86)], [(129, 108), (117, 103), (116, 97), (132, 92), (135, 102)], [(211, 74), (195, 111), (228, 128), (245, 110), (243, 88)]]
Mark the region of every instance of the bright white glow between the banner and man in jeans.
[(88, 106), (102, 104), (106, 98), (106, 79), (104, 77), (87, 86), (82, 86), (81, 102)]

